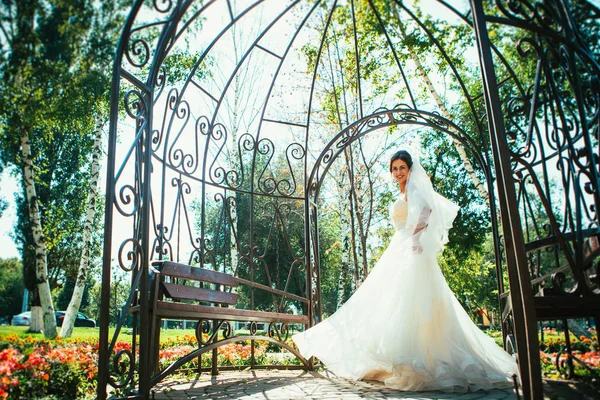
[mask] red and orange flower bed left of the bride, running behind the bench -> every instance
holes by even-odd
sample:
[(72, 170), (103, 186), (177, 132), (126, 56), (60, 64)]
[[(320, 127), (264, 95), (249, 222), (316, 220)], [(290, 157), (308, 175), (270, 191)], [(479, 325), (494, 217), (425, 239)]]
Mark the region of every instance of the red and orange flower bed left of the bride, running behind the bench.
[[(289, 342), (291, 343), (291, 341)], [(195, 336), (185, 335), (161, 343), (161, 368), (197, 348)], [(255, 341), (256, 364), (299, 364), (295, 357), (276, 357), (273, 345)], [(131, 343), (117, 342), (115, 353), (131, 350)], [(218, 348), (220, 366), (250, 365), (250, 341)], [(0, 335), (0, 399), (93, 399), (98, 374), (97, 339), (45, 340)], [(211, 356), (202, 357), (202, 366), (211, 365)], [(198, 359), (182, 370), (195, 373)]]

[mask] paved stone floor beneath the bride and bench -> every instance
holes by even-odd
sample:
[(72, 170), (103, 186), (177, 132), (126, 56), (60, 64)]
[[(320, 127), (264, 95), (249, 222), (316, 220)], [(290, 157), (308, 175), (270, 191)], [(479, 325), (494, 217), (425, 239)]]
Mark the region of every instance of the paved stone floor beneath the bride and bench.
[[(195, 378), (169, 379), (160, 384), (155, 399), (516, 399), (513, 389), (487, 392), (407, 393), (391, 390), (376, 382), (352, 382), (324, 372), (300, 370), (226, 371), (216, 377), (204, 374)], [(600, 399), (594, 389), (581, 383), (551, 381), (544, 383), (548, 400)]]

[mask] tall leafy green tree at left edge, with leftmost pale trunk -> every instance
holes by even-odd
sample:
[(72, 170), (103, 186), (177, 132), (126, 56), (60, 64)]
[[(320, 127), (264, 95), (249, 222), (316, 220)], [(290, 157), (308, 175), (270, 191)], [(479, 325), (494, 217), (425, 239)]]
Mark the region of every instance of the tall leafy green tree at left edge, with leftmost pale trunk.
[[(107, 71), (95, 66), (98, 59), (103, 65), (110, 60), (112, 44), (90, 21), (96, 11), (110, 20), (115, 4), (5, 0), (0, 11), (0, 158), (21, 170), (28, 211), (20, 207), (26, 223), (17, 229), (32, 233), (21, 230), (17, 236), (25, 270), (35, 265), (47, 337), (56, 335), (50, 285), (57, 284), (69, 264), (73, 269), (79, 265), (73, 254), (81, 251), (74, 239), (84, 209), (79, 198), (87, 194), (83, 165), (92, 149), (99, 97), (107, 86)], [(118, 19), (111, 23), (119, 25)], [(34, 262), (26, 254), (32, 250)]]

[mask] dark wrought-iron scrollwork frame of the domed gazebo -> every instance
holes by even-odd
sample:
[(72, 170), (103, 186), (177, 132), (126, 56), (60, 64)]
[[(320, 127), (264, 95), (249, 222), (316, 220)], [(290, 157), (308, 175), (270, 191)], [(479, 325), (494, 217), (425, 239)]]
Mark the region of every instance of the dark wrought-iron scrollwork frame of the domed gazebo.
[[(218, 269), (220, 262), (227, 258), (226, 255), (222, 258), (216, 255), (215, 247), (211, 247), (213, 246), (210, 242), (211, 236), (206, 232), (207, 193), (212, 190), (207, 188), (210, 186), (222, 189), (221, 197), (217, 199), (218, 196), (215, 195), (214, 198), (214, 201), (220, 201), (222, 204), (219, 221), (225, 221), (224, 225), (229, 224), (228, 234), (234, 237), (233, 240), (237, 242), (236, 247), (240, 251), (238, 261), (250, 266), (249, 271), (252, 275), (247, 277), (246, 281), (255, 286), (258, 283), (254, 281), (253, 271), (257, 265), (266, 265), (265, 257), (267, 257), (271, 237), (269, 235), (260, 246), (253, 237), (259, 221), (259, 217), (255, 220), (253, 215), (255, 201), (258, 204), (259, 198), (272, 199), (275, 217), (270, 232), (273, 231), (272, 229), (275, 231), (283, 229), (282, 220), (286, 216), (292, 218), (292, 214), (302, 215), (304, 235), (297, 241), (303, 242), (303, 248), (294, 250), (290, 247), (287, 231), (284, 232), (284, 238), (293, 259), (288, 276), (292, 276), (294, 268), (304, 269), (306, 282), (303, 293), (288, 292), (289, 279), (285, 281), (284, 288), (273, 288), (266, 267), (268, 285), (263, 287), (270, 287), (273, 296), (281, 296), (282, 299), (287, 296), (308, 304), (304, 312), (308, 315), (311, 324), (316, 323), (321, 317), (317, 204), (323, 180), (333, 161), (347, 146), (369, 132), (402, 124), (421, 125), (455, 138), (469, 151), (480, 174), (485, 178), (492, 199), (490, 212), (496, 252), (499, 301), (503, 308), (504, 338), (507, 345), (512, 343), (513, 338), (516, 339), (515, 350), (518, 354), (520, 382), (524, 396), (531, 399), (542, 398), (537, 321), (564, 320), (565, 329), (566, 320), (569, 318), (594, 317), (596, 324), (600, 322), (600, 278), (596, 265), (600, 250), (595, 244), (595, 238), (600, 234), (596, 214), (600, 206), (597, 169), (600, 66), (595, 59), (595, 54), (578, 33), (567, 0), (548, 0), (540, 3), (520, 1), (506, 4), (501, 1), (491, 4), (471, 0), (470, 9), (466, 12), (459, 11), (443, 0), (439, 1), (441, 7), (473, 29), (479, 52), (483, 88), (482, 93), (475, 94), (467, 90), (460, 74), (450, 62), (451, 58), (444, 50), (443, 44), (426, 26), (422, 18), (403, 2), (399, 0), (393, 2), (393, 7), (397, 10), (396, 18), (399, 18), (400, 12), (411, 18), (415, 26), (434, 43), (441, 54), (440, 57), (449, 62), (448, 68), (453, 71), (476, 120), (477, 138), (471, 137), (456, 123), (438, 112), (428, 111), (417, 104), (403, 66), (398, 61), (396, 49), (388, 36), (386, 27), (390, 25), (385, 25), (374, 2), (367, 0), (365, 4), (371, 7), (381, 24), (412, 102), (388, 109), (375, 109), (364, 115), (360, 61), (357, 56), (359, 111), (352, 121), (348, 121), (344, 129), (338, 130), (335, 136), (326, 140), (323, 147), (315, 153), (316, 162), (310, 165), (308, 162), (309, 129), (317, 70), (315, 67), (310, 85), (307, 121), (301, 123), (272, 121), (265, 114), (265, 110), (260, 117), (260, 126), (266, 122), (274, 122), (304, 129), (307, 132), (303, 143), (289, 144), (281, 153), (283, 154), (281, 159), (289, 166), (289, 177), (269, 175), (267, 166), (272, 162), (277, 146), (268, 137), (260, 138), (259, 133), (241, 135), (234, 141), (238, 150), (236, 154), (239, 157), (238, 169), (224, 167), (222, 158), (219, 158), (223, 157), (221, 150), (227, 138), (237, 135), (238, 132), (229, 132), (228, 127), (220, 124), (217, 111), (210, 118), (205, 116), (196, 118), (195, 149), (187, 151), (185, 144), (177, 145), (179, 136), (192, 114), (190, 101), (185, 98), (185, 90), (188, 86), (195, 86), (212, 98), (218, 110), (236, 72), (250, 56), (252, 50), (259, 49), (279, 60), (275, 76), (283, 68), (293, 40), (284, 49), (282, 55), (261, 43), (261, 39), (268, 33), (268, 29), (265, 29), (255, 38), (240, 60), (237, 60), (234, 72), (227, 79), (225, 89), (222, 89), (219, 96), (215, 97), (194, 80), (198, 71), (202, 72), (203, 68), (209, 69), (209, 66), (203, 62), (206, 62), (206, 54), (218, 39), (263, 1), (255, 1), (239, 13), (234, 11), (229, 0), (207, 1), (201, 4), (199, 9), (193, 10), (195, 17), (192, 18), (186, 12), (192, 10), (192, 6), (196, 3), (194, 0), (171, 0), (162, 3), (155, 0), (150, 4), (149, 10), (162, 17), (135, 25), (138, 19), (146, 18), (140, 13), (144, 3), (146, 1), (136, 1), (127, 18), (117, 50), (112, 83), (100, 320), (99, 398), (107, 396), (108, 385), (113, 388), (128, 388), (129, 394), (124, 394), (125, 397), (148, 398), (151, 386), (156, 382), (152, 378), (154, 371), (149, 370), (148, 367), (151, 338), (147, 327), (150, 326), (152, 318), (148, 298), (149, 264), (153, 259), (170, 258), (180, 261), (179, 259), (184, 257), (179, 253), (182, 237), (175, 232), (182, 227), (190, 228), (193, 225), (187, 214), (182, 217), (183, 212), (187, 213), (185, 196), (192, 190), (189, 182), (195, 182), (201, 188), (201, 222), (198, 237), (189, 233), (189, 239), (196, 242), (191, 244), (191, 254), (185, 261), (188, 263), (195, 261), (201, 266), (212, 265), (214, 269)], [(295, 6), (303, 3), (311, 3), (311, 13), (321, 3), (331, 7), (331, 12), (326, 13), (328, 17), (325, 21), (324, 34), (318, 46), (315, 64), (318, 66), (337, 1), (291, 1), (272, 20), (269, 27), (274, 26)], [(230, 22), (213, 41), (207, 42), (202, 57), (188, 71), (181, 91), (171, 89), (167, 93), (165, 89), (168, 87), (168, 76), (164, 68), (165, 60), (170, 52), (173, 52), (180, 36), (190, 28), (191, 21), (216, 4), (225, 4), (224, 9), (229, 12)], [(350, 0), (348, 5), (351, 9), (349, 20), (354, 26), (354, 40), (356, 54), (358, 54), (355, 1)], [(487, 6), (485, 9), (484, 5)], [(595, 12), (597, 19), (600, 12), (592, 5), (586, 7)], [(309, 16), (310, 14), (306, 15), (296, 30), (294, 38)], [(390, 20), (387, 23), (393, 24), (394, 21), (400, 20)], [(513, 67), (490, 40), (488, 33), (490, 25), (527, 32), (516, 46), (524, 60), (531, 58), (536, 63), (537, 69), (532, 82), (520, 81)], [(156, 29), (154, 36), (149, 34), (145, 38), (136, 38), (140, 32), (153, 29)], [(152, 42), (153, 45), (149, 44)], [(503, 75), (500, 82), (498, 82), (499, 74)], [(511, 84), (514, 85), (514, 92), (502, 91), (503, 87)], [(268, 85), (266, 103), (274, 87), (275, 79)], [(475, 111), (477, 108), (475, 104), (481, 99), (485, 100), (486, 115), (480, 115)], [(162, 104), (164, 104), (164, 113), (162, 118), (159, 118), (158, 107)], [(158, 126), (157, 121), (160, 122), (161, 119), (163, 125)], [(129, 138), (123, 136), (119, 139), (124, 120), (132, 121), (132, 126), (128, 129), (133, 134)], [(478, 143), (487, 142), (486, 122), (490, 147), (479, 149)], [(259, 127), (257, 132), (260, 131)], [(205, 140), (204, 147), (199, 139)], [(123, 151), (123, 155), (118, 150), (118, 140), (122, 141), (120, 146), (123, 146), (124, 140), (128, 140), (125, 144), (129, 147)], [(211, 145), (216, 146), (212, 148), (212, 153), (209, 149)], [(202, 156), (199, 155), (200, 150), (204, 152)], [(248, 171), (242, 160), (244, 156), (252, 160), (250, 171), (246, 175), (244, 174)], [(295, 163), (300, 164), (300, 167)], [(557, 194), (550, 188), (548, 179), (548, 170), (553, 163), (558, 165), (557, 168), (562, 174), (560, 182), (562, 192), (558, 194), (563, 201), (560, 210), (556, 208), (554, 197)], [(296, 176), (294, 171), (301, 175)], [(155, 179), (153, 176), (156, 174), (159, 175), (160, 189), (153, 192), (152, 188), (157, 186), (152, 184)], [(125, 181), (125, 175), (130, 175), (131, 181)], [(173, 197), (174, 204), (169, 203), (167, 194), (169, 178), (176, 193)], [(532, 182), (533, 189), (530, 188), (529, 182)], [(303, 189), (299, 189), (300, 186)], [(496, 190), (497, 203), (494, 196)], [(232, 196), (231, 193), (234, 195)], [(528, 195), (537, 196), (541, 202), (545, 212), (543, 221), (534, 219), (534, 222), (531, 222), (532, 218), (539, 218), (539, 216), (532, 214), (528, 206)], [(239, 199), (246, 199), (244, 196), (247, 196), (250, 204), (247, 243), (240, 241), (240, 233), (235, 232), (236, 226), (232, 223), (234, 217), (231, 215), (232, 204), (236, 207)], [(300, 201), (301, 206), (294, 210), (292, 206), (284, 204), (290, 201)], [(167, 207), (173, 207), (174, 210), (171, 220), (165, 215)], [(497, 216), (496, 207), (499, 209), (500, 218)], [(560, 213), (562, 216), (557, 215)], [(117, 228), (120, 229), (115, 223), (118, 217), (129, 220), (131, 228), (131, 234), (121, 239), (115, 238)], [(183, 224), (181, 218), (185, 219)], [(177, 219), (179, 221), (176, 221)], [(500, 235), (500, 226), (502, 235)], [(542, 251), (554, 256), (552, 265), (544, 264), (547, 260), (542, 256)], [(119, 264), (117, 267), (112, 266), (115, 253)], [(217, 259), (221, 261), (218, 262)], [(122, 305), (123, 313), (117, 321), (116, 334), (111, 340), (108, 324), (113, 268), (130, 274), (131, 288), (127, 300)], [(222, 268), (225, 270), (226, 267), (222, 265)], [(509, 291), (503, 287), (505, 272), (510, 283)], [(232, 271), (232, 273), (235, 275), (236, 272)], [(254, 308), (252, 290), (250, 289), (250, 307)], [(134, 306), (137, 307), (137, 311), (133, 315), (134, 335), (131, 349), (115, 353), (118, 332)], [(279, 310), (275, 301), (274, 307)], [(281, 328), (287, 331), (287, 326)], [(216, 325), (213, 330), (218, 330)], [(137, 334), (139, 334), (139, 341)], [(238, 339), (243, 340), (243, 337)], [(284, 345), (283, 341), (280, 342)], [(218, 345), (220, 343), (209, 344), (206, 351), (213, 350)], [(572, 360), (571, 354), (569, 357), (569, 360)], [(572, 370), (572, 364), (569, 365)]]

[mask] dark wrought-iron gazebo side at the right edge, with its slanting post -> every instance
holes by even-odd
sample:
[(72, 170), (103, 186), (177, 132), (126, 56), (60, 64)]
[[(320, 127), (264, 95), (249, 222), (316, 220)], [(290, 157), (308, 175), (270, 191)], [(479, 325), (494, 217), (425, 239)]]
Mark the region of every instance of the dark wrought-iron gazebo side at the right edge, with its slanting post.
[[(599, 94), (591, 88), (597, 87), (600, 68), (577, 32), (567, 1), (505, 5), (498, 0), (496, 6), (494, 14), (471, 1), (503, 228), (510, 246), (506, 255), (511, 290), (504, 295), (511, 302), (505, 315), (514, 322), (524, 395), (541, 399), (536, 321), (600, 320), (598, 140), (591, 132), (599, 121)], [(518, 56), (536, 64), (526, 93), (519, 97), (499, 95), (487, 24), (513, 28), (521, 37), (515, 44)], [(503, 103), (506, 110), (500, 109)], [(559, 192), (554, 194), (552, 162), (560, 174)], [(539, 216), (531, 198), (540, 204)], [(557, 201), (562, 203), (562, 215), (556, 211)], [(543, 252), (554, 259), (543, 261)]]

